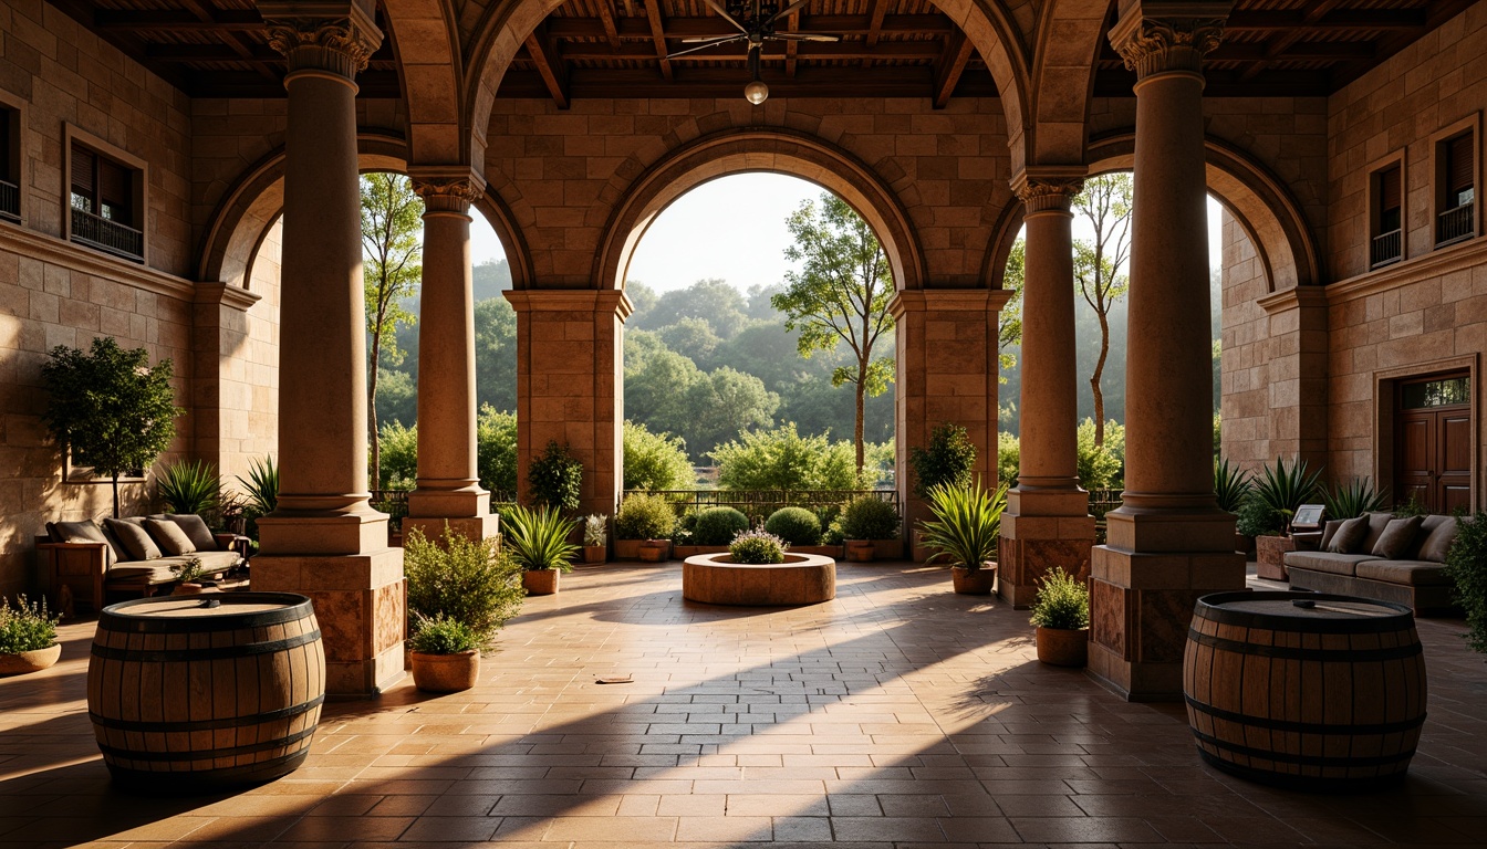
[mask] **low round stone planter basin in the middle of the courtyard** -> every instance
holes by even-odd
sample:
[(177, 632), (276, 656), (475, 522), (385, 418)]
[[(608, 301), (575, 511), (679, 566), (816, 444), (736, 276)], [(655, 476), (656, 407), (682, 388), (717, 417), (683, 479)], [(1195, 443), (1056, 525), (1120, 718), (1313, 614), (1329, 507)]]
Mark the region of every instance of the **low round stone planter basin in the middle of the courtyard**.
[(785, 553), (784, 564), (735, 564), (733, 555), (697, 555), (681, 565), (681, 596), (749, 607), (819, 604), (836, 598), (836, 561)]

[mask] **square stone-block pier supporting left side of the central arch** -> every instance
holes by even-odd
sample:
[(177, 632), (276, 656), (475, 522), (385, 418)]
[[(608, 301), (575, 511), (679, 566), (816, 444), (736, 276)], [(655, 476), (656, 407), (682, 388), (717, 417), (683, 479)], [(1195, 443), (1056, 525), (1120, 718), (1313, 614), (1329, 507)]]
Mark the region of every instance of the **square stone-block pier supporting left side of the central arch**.
[(583, 461), (583, 513), (614, 513), (623, 488), (623, 291), (523, 288), (506, 293), (516, 309), (516, 476), (549, 440)]

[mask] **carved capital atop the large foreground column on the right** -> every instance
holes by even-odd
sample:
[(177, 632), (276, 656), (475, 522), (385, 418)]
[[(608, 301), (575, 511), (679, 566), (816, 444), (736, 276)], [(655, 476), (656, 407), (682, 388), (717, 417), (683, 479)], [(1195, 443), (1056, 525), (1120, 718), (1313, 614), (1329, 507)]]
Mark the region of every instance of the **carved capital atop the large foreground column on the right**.
[(1111, 45), (1136, 79), (1203, 73), (1203, 57), (1224, 37), (1231, 3), (1135, 3), (1111, 27)]

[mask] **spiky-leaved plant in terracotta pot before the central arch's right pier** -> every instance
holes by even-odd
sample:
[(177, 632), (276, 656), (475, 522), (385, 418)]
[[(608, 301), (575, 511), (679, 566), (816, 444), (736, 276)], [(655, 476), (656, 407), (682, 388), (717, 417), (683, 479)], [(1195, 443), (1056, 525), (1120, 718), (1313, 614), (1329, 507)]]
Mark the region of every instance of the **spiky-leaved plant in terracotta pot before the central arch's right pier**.
[(920, 535), (932, 552), (926, 562), (946, 559), (955, 592), (989, 595), (996, 589), (996, 543), (1001, 540), (1007, 486), (987, 492), (975, 482), (970, 486), (941, 483), (929, 491), (929, 522), (920, 522)]

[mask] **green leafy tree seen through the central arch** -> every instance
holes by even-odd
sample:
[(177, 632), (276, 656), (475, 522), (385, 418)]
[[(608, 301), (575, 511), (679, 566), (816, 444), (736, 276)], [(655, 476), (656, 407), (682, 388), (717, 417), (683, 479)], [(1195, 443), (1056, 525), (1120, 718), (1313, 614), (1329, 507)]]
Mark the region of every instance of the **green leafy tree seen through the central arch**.
[(785, 329), (799, 330), (796, 349), (809, 358), (846, 343), (852, 363), (831, 373), (831, 385), (852, 384), (857, 393), (857, 421), (852, 440), (857, 470), (862, 471), (862, 419), (868, 396), (888, 391), (894, 379), (894, 360), (874, 358), (879, 338), (891, 332), (894, 318), (888, 300), (894, 296), (894, 277), (888, 256), (873, 229), (842, 198), (821, 195), (821, 214), (806, 201), (785, 220), (796, 244), (785, 248), (785, 259), (804, 262), (800, 272), (785, 274), (785, 291), (769, 302), (785, 314)]

